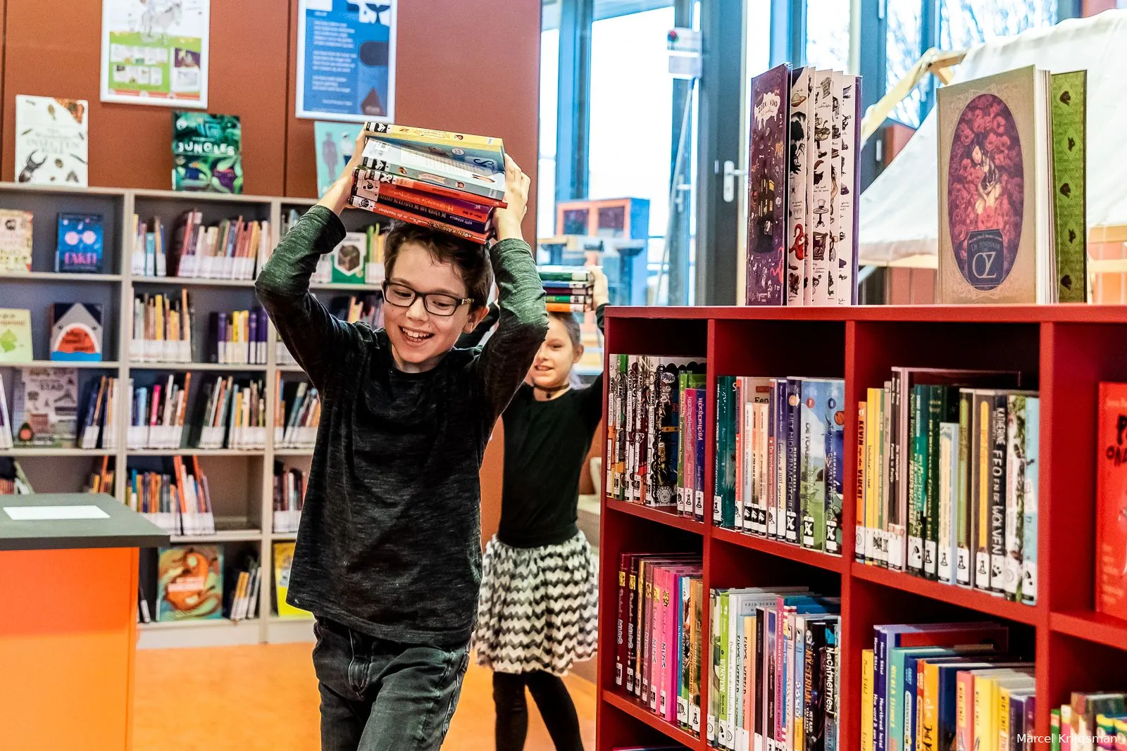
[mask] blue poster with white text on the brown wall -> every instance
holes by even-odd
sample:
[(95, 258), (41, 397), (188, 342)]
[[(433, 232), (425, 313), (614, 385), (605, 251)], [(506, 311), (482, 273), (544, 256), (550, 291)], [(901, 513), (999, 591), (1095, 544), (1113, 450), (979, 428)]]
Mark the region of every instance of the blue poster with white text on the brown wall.
[(298, 0), (298, 117), (392, 120), (396, 5)]

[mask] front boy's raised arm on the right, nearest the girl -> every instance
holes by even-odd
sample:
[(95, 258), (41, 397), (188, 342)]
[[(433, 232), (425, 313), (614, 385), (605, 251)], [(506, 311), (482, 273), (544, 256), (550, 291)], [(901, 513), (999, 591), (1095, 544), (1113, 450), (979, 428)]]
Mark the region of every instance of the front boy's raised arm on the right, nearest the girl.
[(529, 177), (505, 157), (505, 202), (494, 212), (498, 242), (489, 250), (497, 281), (497, 330), (486, 342), (474, 366), (496, 418), (524, 382), (532, 360), (548, 336), (544, 286), (532, 258), (532, 249), (521, 236), (529, 196)]

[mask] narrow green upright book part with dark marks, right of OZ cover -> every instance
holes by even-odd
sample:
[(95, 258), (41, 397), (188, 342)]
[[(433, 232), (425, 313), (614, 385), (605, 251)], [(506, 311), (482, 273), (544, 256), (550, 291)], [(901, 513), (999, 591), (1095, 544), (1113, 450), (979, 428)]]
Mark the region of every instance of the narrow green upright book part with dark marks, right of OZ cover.
[(1053, 212), (1062, 303), (1088, 302), (1088, 71), (1053, 74)]

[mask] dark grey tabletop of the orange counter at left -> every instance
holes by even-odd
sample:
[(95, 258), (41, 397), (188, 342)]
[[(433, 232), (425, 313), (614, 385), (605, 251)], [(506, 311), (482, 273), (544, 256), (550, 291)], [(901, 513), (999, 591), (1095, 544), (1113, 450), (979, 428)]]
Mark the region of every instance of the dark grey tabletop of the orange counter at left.
[[(48, 513), (48, 507), (97, 507), (104, 518), (15, 520), (15, 513)], [(24, 510), (26, 509), (26, 510)], [(76, 510), (63, 510), (72, 516)], [(100, 516), (100, 515), (97, 515)], [(0, 495), (0, 551), (44, 551), (86, 547), (158, 547), (168, 533), (117, 499), (94, 493)]]

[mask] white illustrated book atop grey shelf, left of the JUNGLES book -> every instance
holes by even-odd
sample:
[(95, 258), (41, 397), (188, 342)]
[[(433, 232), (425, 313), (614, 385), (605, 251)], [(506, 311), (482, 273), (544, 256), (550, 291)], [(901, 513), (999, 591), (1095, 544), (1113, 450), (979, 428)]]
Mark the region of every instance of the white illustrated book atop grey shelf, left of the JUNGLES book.
[(85, 187), (89, 116), (86, 99), (16, 95), (16, 182)]

